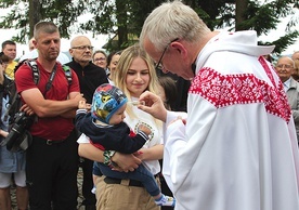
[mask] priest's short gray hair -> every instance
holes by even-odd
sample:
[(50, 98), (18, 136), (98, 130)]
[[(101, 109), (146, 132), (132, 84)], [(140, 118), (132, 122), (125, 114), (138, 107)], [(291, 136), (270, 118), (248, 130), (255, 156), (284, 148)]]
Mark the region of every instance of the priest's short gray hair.
[(162, 51), (177, 38), (197, 42), (208, 32), (210, 29), (198, 14), (188, 5), (176, 0), (162, 3), (147, 16), (140, 35), (140, 42), (143, 47), (147, 38), (157, 51)]

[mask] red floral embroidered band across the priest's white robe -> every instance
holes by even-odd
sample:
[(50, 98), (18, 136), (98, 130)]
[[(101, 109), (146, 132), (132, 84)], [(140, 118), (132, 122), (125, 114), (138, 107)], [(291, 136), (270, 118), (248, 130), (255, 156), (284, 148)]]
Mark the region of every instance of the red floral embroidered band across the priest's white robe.
[(211, 68), (203, 68), (194, 78), (190, 93), (199, 94), (217, 108), (264, 103), (266, 111), (288, 122), (290, 107), (282, 82), (278, 86), (278, 89), (273, 88), (252, 74), (220, 75)]

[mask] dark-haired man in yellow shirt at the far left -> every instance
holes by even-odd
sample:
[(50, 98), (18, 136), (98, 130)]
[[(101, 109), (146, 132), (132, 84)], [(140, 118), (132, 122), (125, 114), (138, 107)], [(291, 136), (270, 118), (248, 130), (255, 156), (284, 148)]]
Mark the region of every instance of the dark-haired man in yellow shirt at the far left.
[(10, 58), (5, 68), (5, 75), (10, 79), (14, 79), (14, 68), (17, 65), (17, 62), (14, 61), (16, 57), (16, 43), (11, 40), (2, 42), (2, 52)]

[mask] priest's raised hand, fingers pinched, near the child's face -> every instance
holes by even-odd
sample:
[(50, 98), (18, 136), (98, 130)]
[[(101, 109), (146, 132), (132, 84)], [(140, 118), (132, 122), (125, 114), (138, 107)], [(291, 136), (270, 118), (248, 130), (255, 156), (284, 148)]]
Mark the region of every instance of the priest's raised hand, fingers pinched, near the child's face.
[(162, 100), (150, 91), (145, 91), (139, 97), (139, 101), (144, 102), (138, 105), (138, 108), (151, 114), (153, 117), (166, 121), (167, 109), (164, 106)]

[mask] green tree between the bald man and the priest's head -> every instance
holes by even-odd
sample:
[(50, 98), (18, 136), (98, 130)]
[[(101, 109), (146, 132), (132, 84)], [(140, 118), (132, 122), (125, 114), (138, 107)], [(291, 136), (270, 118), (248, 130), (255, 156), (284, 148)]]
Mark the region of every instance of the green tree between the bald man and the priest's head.
[[(93, 18), (82, 23), (86, 31), (112, 35), (107, 49), (125, 49), (138, 40), (144, 19), (162, 0), (90, 0)], [(101, 10), (99, 10), (101, 9)]]

